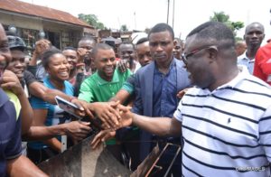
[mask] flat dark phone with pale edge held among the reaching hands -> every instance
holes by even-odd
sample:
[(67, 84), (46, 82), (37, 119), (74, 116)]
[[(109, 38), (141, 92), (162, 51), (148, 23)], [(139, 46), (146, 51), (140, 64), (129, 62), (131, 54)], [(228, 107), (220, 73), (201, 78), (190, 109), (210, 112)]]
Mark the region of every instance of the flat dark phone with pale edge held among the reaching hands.
[(79, 119), (83, 118), (83, 117), (78, 116), (76, 114), (76, 111), (79, 110), (79, 107), (77, 107), (75, 104), (73, 104), (70, 101), (67, 101), (66, 99), (61, 98), (59, 96), (56, 96), (55, 100), (56, 100), (58, 106), (61, 107), (61, 109), (63, 109), (65, 112), (67, 112), (70, 115), (75, 116)]

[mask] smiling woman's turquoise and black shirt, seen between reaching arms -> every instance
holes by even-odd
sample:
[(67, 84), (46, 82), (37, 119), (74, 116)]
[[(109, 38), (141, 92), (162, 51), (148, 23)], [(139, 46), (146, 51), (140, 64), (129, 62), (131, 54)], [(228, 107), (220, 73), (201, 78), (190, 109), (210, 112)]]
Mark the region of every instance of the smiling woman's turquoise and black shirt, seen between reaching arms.
[[(51, 84), (49, 77), (43, 79), (43, 84), (46, 88), (56, 89)], [(66, 95), (73, 96), (73, 88), (70, 82), (65, 80), (64, 85), (65, 89), (61, 91)], [(41, 98), (32, 97), (31, 106), (33, 109), (48, 109), (47, 117), (44, 123), (45, 126), (59, 125), (70, 121), (70, 116), (68, 113), (64, 112), (59, 106), (45, 102)], [(57, 138), (61, 140), (61, 136), (58, 136)], [(33, 149), (42, 149), (48, 147), (46, 144), (42, 144), (42, 142), (31, 142), (28, 144), (28, 146)]]

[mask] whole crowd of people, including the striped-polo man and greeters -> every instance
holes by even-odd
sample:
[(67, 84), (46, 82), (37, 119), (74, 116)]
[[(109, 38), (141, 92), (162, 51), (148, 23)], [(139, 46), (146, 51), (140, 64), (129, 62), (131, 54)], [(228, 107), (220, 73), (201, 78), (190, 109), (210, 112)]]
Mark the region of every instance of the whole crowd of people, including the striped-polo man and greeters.
[[(269, 176), (271, 48), (261, 23), (235, 42), (223, 23), (202, 23), (185, 42), (158, 23), (147, 37), (78, 46), (35, 43), (31, 60), (16, 34), (0, 25), (0, 176), (46, 176), (36, 165), (89, 135), (131, 171), (155, 145), (164, 176)], [(119, 58), (117, 58), (118, 56)], [(254, 75), (254, 76), (253, 76)], [(78, 119), (56, 104), (78, 107)], [(23, 140), (23, 142), (22, 142)], [(66, 142), (64, 143), (66, 144)], [(90, 147), (89, 147), (90, 148)], [(90, 158), (90, 157), (89, 157)]]

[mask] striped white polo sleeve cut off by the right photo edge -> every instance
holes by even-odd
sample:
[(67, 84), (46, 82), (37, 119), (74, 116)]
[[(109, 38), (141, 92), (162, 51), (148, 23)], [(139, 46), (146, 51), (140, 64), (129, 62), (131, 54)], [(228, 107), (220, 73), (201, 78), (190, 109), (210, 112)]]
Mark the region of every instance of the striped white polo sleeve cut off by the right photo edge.
[(259, 143), (265, 149), (268, 162), (271, 163), (271, 106), (259, 120)]

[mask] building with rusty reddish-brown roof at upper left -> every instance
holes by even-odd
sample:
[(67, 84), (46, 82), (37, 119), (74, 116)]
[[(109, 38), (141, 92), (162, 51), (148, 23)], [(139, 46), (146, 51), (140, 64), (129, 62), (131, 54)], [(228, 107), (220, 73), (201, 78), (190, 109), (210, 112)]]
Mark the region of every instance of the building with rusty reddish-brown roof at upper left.
[(45, 38), (59, 48), (77, 47), (84, 35), (96, 37), (96, 29), (77, 17), (41, 5), (32, 5), (17, 0), (0, 1), (0, 23), (6, 31), (14, 28), (29, 49), (40, 38)]

